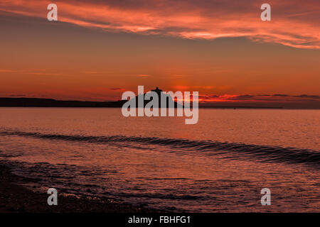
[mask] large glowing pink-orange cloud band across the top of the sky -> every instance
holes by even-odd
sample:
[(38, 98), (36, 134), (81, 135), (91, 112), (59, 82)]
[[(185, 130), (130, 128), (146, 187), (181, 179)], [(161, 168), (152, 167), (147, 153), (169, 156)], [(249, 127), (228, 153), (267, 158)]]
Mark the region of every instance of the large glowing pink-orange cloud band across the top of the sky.
[[(58, 20), (111, 32), (171, 35), (188, 39), (245, 37), (255, 42), (320, 49), (319, 0), (270, 0), (272, 21), (260, 20), (254, 0), (55, 1)], [(0, 10), (46, 17), (47, 1), (1, 1)]]

